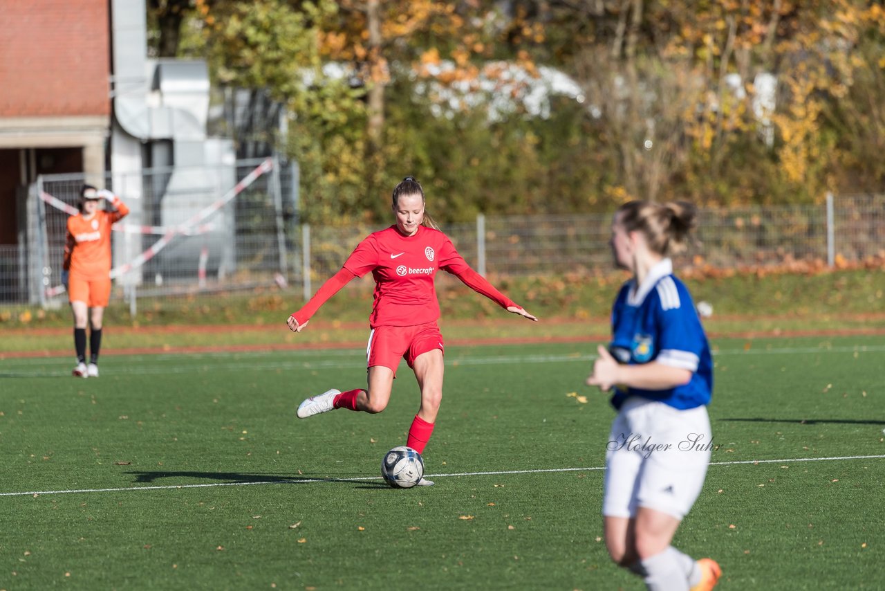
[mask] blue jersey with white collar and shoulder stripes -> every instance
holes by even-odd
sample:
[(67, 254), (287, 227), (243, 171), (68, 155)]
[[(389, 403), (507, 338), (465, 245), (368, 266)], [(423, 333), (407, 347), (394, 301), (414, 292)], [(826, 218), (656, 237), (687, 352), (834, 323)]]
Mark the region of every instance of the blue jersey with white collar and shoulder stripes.
[(658, 362), (692, 372), (688, 384), (670, 390), (616, 389), (614, 408), (620, 408), (629, 396), (659, 400), (680, 409), (710, 402), (710, 344), (689, 290), (673, 276), (673, 261), (664, 259), (650, 268), (643, 284), (637, 286), (631, 280), (621, 287), (612, 308), (612, 334), (609, 350), (621, 363)]

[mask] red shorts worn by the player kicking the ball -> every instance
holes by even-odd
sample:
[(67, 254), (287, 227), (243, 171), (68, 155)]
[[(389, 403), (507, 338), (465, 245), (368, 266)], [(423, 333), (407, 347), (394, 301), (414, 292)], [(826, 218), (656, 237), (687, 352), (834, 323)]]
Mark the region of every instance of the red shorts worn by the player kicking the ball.
[(443, 347), (443, 334), (436, 323), (417, 324), (415, 326), (379, 326), (369, 334), (366, 346), (366, 362), (368, 367), (381, 365), (393, 371), (401, 359), (412, 367), (415, 359), (427, 351)]

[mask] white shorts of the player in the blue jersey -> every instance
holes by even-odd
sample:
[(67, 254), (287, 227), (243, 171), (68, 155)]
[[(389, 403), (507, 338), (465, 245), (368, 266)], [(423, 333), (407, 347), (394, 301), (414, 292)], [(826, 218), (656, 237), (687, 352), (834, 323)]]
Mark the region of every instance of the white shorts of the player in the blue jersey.
[(701, 494), (712, 446), (706, 407), (627, 399), (607, 443), (603, 515), (635, 517), (646, 507), (685, 517)]

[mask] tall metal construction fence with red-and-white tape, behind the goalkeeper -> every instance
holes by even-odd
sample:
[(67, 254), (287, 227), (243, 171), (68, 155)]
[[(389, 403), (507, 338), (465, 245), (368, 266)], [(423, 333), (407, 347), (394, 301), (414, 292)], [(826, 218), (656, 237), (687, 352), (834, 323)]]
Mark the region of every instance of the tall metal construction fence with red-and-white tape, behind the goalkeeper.
[[(66, 222), (84, 175), (44, 175), (29, 191), (20, 246), (0, 251), (0, 302), (58, 306)], [(127, 300), (244, 289), (291, 275), (296, 174), (271, 159), (108, 174), (129, 214), (113, 228), (116, 292)], [(95, 183), (93, 181), (93, 183)], [(119, 296), (119, 293), (117, 293)]]

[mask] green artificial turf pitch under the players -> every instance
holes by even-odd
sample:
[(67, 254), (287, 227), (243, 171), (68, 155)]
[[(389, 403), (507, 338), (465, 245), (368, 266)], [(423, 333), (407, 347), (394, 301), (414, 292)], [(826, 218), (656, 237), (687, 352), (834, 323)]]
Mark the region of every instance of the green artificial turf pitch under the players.
[[(881, 588), (885, 341), (713, 345), (716, 448), (674, 544), (722, 589)], [(592, 348), (451, 346), (436, 486), (410, 490), (379, 473), (405, 364), (380, 415), (294, 417), (364, 385), (359, 349), (0, 361), (0, 588), (643, 588), (601, 540)]]

